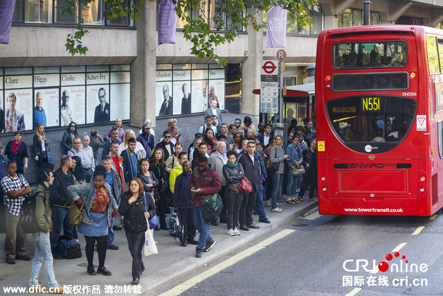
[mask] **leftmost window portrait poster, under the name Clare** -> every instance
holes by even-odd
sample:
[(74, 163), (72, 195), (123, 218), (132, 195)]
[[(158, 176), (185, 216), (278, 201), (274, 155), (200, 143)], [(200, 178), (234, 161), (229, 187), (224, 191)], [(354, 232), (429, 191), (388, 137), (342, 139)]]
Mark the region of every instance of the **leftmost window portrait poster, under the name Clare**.
[(10, 89), (6, 98), (6, 132), (33, 128), (33, 89)]

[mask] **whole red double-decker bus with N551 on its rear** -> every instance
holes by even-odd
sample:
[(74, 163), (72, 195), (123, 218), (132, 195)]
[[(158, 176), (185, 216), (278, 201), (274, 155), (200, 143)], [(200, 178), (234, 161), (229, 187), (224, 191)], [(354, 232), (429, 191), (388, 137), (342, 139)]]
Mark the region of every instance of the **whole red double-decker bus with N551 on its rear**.
[(443, 31), (323, 31), (316, 57), (320, 214), (443, 207)]

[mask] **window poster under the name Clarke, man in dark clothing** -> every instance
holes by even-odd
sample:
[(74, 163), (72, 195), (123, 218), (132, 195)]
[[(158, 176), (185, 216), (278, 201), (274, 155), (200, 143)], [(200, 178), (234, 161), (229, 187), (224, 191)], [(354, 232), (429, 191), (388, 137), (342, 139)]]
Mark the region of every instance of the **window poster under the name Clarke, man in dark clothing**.
[(85, 98), (84, 86), (62, 87), (60, 125), (67, 126), (71, 121), (77, 124), (85, 123)]

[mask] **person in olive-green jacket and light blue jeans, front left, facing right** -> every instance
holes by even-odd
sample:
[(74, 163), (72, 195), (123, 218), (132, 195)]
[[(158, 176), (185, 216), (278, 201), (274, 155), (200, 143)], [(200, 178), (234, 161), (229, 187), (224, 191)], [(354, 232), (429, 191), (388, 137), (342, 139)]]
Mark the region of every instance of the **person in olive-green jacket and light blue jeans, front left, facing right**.
[(51, 205), (49, 204), (49, 186), (54, 182), (52, 171), (40, 170), (37, 173), (37, 188), (33, 190), (31, 196), (35, 196), (35, 218), (39, 225), (40, 232), (33, 234), (34, 237), (34, 260), (33, 269), (30, 273), (29, 286), (39, 286), (39, 271), (44, 265), (46, 278), (48, 279), (50, 293), (63, 294), (63, 286), (60, 286), (55, 279), (53, 268), (53, 254), (49, 241), (49, 232), (53, 227), (51, 220)]

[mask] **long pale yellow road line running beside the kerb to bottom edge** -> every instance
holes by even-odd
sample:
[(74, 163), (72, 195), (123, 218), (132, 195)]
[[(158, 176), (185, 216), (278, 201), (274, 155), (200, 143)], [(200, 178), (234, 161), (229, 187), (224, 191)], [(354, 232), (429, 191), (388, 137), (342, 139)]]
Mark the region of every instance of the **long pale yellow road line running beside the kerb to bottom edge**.
[(166, 291), (165, 293), (161, 294), (160, 296), (173, 296), (173, 295), (180, 295), (181, 293), (185, 292), (189, 288), (192, 288), (196, 284), (199, 284), (199, 282), (204, 281), (205, 279), (208, 279), (208, 277), (212, 277), (213, 275), (217, 274), (221, 270), (224, 270), (225, 268), (230, 267), (231, 265), (234, 265), (235, 263), (242, 261), (248, 256), (251, 256), (252, 254), (263, 250), (265, 247), (268, 247), (271, 245), (271, 243), (275, 243), (276, 241), (280, 240), (281, 238), (284, 238), (284, 236), (288, 236), (289, 234), (296, 232), (292, 229), (284, 229), (281, 232), (278, 232), (278, 234), (274, 234), (273, 236), (266, 238), (261, 243), (257, 243), (257, 245), (254, 245), (253, 247), (249, 247), (248, 249), (239, 252), (238, 254), (230, 257), (229, 259), (226, 259), (225, 261), (215, 265), (213, 268), (210, 268), (204, 272), (201, 272), (199, 275), (196, 275), (195, 277), (192, 277), (188, 279), (188, 281), (185, 281), (184, 283), (180, 284), (179, 286), (175, 286), (174, 288)]

